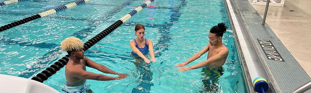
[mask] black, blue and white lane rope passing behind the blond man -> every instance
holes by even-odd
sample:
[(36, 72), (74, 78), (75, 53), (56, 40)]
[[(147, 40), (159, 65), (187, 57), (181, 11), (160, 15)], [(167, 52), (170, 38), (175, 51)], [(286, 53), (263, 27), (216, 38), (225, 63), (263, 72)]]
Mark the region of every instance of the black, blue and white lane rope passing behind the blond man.
[[(142, 10), (142, 8), (149, 5), (154, 0), (148, 0), (141, 6), (135, 8), (133, 11), (129, 12), (125, 16), (123, 16), (120, 20), (114, 22), (114, 24), (110, 25), (108, 28), (97, 34), (95, 37), (91, 38), (83, 45), (83, 50), (86, 51), (89, 48), (91, 48), (93, 45), (95, 45), (97, 42), (99, 42), (101, 39), (106, 37), (108, 34), (110, 34), (114, 29), (117, 29), (123, 22), (128, 20), (130, 17), (135, 15), (138, 11)], [(38, 73), (35, 77), (32, 77), (32, 80), (38, 81), (38, 82), (44, 82), (49, 77), (51, 77), (53, 74), (55, 74), (58, 70), (63, 68), (69, 61), (69, 55), (64, 56), (62, 59), (56, 61), (54, 64), (52, 64), (47, 69), (43, 70), (41, 73)]]

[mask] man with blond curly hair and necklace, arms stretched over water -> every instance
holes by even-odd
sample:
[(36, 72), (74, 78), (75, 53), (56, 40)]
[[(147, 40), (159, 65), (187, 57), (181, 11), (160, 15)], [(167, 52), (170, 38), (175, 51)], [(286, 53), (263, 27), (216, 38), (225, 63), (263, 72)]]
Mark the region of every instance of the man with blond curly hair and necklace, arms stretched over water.
[[(109, 81), (116, 79), (123, 79), (128, 77), (128, 74), (117, 73), (106, 66), (95, 63), (84, 56), (83, 42), (79, 38), (70, 37), (61, 43), (61, 48), (67, 51), (69, 55), (69, 62), (65, 68), (65, 76), (67, 86), (63, 87), (62, 91), (65, 93), (92, 93), (91, 89), (86, 87), (86, 79)], [(118, 77), (110, 77), (103, 74), (96, 74), (86, 71), (86, 66), (97, 69), (103, 73), (116, 74)]]

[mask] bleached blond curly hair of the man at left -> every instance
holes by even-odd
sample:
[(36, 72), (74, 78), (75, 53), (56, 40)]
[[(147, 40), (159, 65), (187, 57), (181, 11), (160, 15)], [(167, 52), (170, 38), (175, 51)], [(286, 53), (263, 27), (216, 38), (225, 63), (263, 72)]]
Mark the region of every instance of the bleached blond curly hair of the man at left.
[(70, 37), (63, 40), (60, 47), (70, 55), (71, 52), (80, 51), (83, 48), (83, 42), (79, 38)]

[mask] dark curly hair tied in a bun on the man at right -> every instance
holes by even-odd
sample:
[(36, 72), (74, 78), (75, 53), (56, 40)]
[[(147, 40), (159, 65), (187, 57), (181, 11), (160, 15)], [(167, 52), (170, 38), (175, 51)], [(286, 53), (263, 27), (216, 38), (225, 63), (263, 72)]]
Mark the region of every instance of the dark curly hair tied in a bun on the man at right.
[(227, 26), (225, 23), (218, 23), (216, 26), (213, 26), (210, 30), (210, 33), (215, 33), (216, 37), (222, 37), (226, 32)]

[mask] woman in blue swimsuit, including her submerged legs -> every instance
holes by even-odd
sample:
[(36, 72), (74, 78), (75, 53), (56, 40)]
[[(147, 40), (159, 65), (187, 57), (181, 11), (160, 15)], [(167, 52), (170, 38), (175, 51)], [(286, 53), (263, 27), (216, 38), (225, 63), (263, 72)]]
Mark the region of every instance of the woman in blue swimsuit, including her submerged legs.
[[(150, 69), (150, 57), (147, 57), (148, 52), (151, 55), (152, 62), (155, 62), (156, 59), (153, 51), (152, 41), (144, 38), (145, 27), (142, 24), (137, 24), (135, 26), (135, 34), (137, 38), (130, 42), (130, 46), (132, 48), (132, 57), (136, 60), (133, 63), (139, 71), (141, 82), (137, 87), (133, 88), (132, 93), (141, 93), (150, 91), (151, 86), (153, 86), (153, 83), (151, 82), (152, 69)], [(144, 62), (141, 60), (144, 60)], [(144, 91), (140, 90), (140, 88), (143, 88)]]

